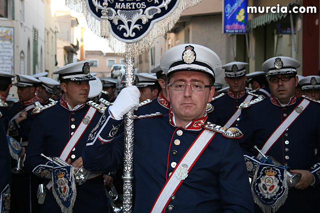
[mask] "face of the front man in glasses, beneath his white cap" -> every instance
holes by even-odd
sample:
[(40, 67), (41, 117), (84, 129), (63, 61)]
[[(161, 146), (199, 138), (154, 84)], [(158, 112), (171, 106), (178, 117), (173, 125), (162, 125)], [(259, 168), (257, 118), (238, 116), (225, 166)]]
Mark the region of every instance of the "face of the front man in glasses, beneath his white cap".
[[(184, 82), (185, 84), (203, 83), (209, 85), (207, 74), (195, 71), (179, 71), (171, 74), (169, 84)], [(214, 87), (204, 88), (203, 91), (192, 91), (190, 86), (184, 90), (173, 90), (171, 86), (166, 87), (168, 101), (175, 117), (185, 122), (204, 116), (206, 104), (211, 101)]]

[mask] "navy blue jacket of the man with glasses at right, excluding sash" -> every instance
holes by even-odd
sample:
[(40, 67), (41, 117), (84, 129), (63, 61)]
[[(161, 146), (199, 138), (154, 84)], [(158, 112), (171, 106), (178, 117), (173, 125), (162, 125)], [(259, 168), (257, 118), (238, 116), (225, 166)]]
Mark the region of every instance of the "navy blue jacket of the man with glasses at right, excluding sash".
[[(261, 150), (273, 131), (301, 101), (301, 98), (294, 97), (288, 106), (281, 107), (277, 99), (271, 96), (242, 109), (237, 127), (244, 135), (239, 139), (243, 153), (257, 156), (257, 152), (252, 152), (253, 146), (256, 145)], [(309, 170), (315, 178), (315, 186), (309, 186), (305, 190), (290, 189), (287, 200), (278, 212), (319, 212), (315, 204), (320, 200), (320, 161), (314, 154), (319, 144), (320, 105), (310, 101), (266, 155), (274, 157), (290, 169)]]

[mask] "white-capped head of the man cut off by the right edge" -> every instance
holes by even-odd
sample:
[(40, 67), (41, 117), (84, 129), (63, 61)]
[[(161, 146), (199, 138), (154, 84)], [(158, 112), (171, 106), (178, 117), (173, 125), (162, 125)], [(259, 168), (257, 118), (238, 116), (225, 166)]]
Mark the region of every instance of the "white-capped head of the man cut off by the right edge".
[(316, 101), (320, 100), (320, 76), (309, 75), (299, 80), (303, 95)]

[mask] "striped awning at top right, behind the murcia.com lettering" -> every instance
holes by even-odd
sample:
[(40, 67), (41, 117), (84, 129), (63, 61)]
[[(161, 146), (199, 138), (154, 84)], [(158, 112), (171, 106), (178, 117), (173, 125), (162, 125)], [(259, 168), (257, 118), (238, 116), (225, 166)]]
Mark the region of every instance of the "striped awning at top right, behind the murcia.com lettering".
[(296, 6), (296, 5), (300, 5), (301, 4), (301, 1), (300, 0), (295, 0), (295, 1), (292, 1), (291, 3), (288, 3), (286, 4), (285, 6), (288, 7), (287, 9), (287, 13), (282, 13), (282, 12), (279, 12), (279, 13), (265, 13), (263, 15), (260, 15), (256, 18), (253, 18), (252, 20), (249, 20), (247, 23), (246, 23), (246, 28), (249, 30), (249, 29), (254, 29), (256, 28), (257, 26), (263, 26), (265, 24), (269, 24), (271, 21), (277, 21), (277, 20), (280, 20), (281, 18), (284, 18), (286, 17), (289, 13), (289, 10), (292, 9), (293, 6)]

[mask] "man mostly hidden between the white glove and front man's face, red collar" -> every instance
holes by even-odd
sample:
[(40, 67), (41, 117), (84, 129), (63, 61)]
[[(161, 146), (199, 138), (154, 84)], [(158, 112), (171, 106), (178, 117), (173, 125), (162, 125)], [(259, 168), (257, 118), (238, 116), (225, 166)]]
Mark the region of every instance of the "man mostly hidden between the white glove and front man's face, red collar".
[(134, 112), (135, 115), (146, 115), (155, 112), (159, 112), (163, 115), (168, 114), (170, 109), (170, 102), (167, 100), (166, 94), (166, 76), (160, 68), (160, 64), (154, 66), (151, 70), (151, 73), (155, 73), (160, 86), (160, 92), (157, 98), (154, 98), (151, 102), (148, 101), (145, 105), (140, 106), (138, 110)]

